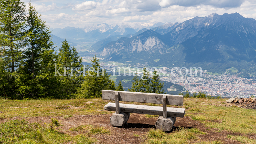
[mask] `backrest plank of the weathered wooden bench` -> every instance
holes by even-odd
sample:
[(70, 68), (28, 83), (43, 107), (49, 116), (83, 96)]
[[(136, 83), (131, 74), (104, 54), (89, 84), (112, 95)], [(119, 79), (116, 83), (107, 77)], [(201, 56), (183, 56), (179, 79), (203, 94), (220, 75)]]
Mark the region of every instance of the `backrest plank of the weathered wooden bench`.
[[(102, 90), (102, 99), (115, 100), (115, 92)], [(119, 92), (119, 101), (125, 102), (139, 102), (139, 103), (153, 103), (153, 104), (163, 104), (163, 94), (153, 94), (153, 93), (138, 93), (138, 92)], [(166, 95), (167, 105), (178, 105), (183, 106), (183, 95)]]

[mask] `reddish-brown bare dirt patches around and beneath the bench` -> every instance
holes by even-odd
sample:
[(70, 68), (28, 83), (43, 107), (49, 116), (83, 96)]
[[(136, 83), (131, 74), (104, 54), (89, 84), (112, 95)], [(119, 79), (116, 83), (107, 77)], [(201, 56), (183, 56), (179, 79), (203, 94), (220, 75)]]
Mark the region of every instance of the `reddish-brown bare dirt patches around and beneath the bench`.
[[(58, 131), (71, 134), (71, 135), (77, 135), (81, 132), (78, 131), (70, 131), (70, 128), (77, 127), (79, 125), (93, 125), (93, 126), (102, 126), (106, 129), (109, 129), (111, 134), (104, 134), (104, 135), (92, 135), (91, 137), (96, 138), (98, 141), (96, 143), (119, 143), (119, 144), (137, 144), (137, 143), (144, 143), (146, 140), (146, 132), (150, 130), (150, 128), (155, 128), (155, 122), (157, 118), (148, 118), (145, 117), (143, 114), (132, 114), (130, 115), (130, 118), (128, 120), (128, 125), (126, 128), (120, 128), (120, 127), (113, 127), (110, 122), (111, 115), (76, 115), (74, 117), (70, 117), (67, 119), (64, 119), (63, 117), (54, 117), (60, 120), (62, 126), (58, 128)], [(53, 117), (33, 117), (28, 118), (27, 120), (29, 122), (41, 122), (49, 123), (50, 118)], [(19, 119), (18, 117), (14, 117), (13, 119)], [(8, 120), (8, 119), (5, 119)], [(1, 121), (5, 121), (2, 119)], [(177, 118), (176, 123), (174, 124), (174, 127), (172, 131), (178, 129), (178, 127), (185, 127), (185, 128), (198, 128), (199, 130), (203, 132), (207, 132), (206, 135), (199, 134), (197, 135), (200, 140), (221, 140), (224, 144), (241, 144), (240, 142), (236, 140), (231, 140), (227, 138), (227, 135), (242, 135), (239, 133), (232, 133), (227, 132), (225, 130), (222, 130), (218, 132), (218, 129), (215, 128), (206, 128), (201, 124), (199, 121), (192, 120), (189, 117), (184, 118)], [(167, 133), (171, 133), (167, 132)], [(88, 131), (83, 131), (82, 133), (86, 133)], [(139, 135), (139, 136), (136, 136)], [(248, 137), (255, 138), (256, 135), (247, 135)], [(191, 143), (194, 143), (196, 141), (191, 141)], [(67, 142), (73, 143), (72, 141)]]

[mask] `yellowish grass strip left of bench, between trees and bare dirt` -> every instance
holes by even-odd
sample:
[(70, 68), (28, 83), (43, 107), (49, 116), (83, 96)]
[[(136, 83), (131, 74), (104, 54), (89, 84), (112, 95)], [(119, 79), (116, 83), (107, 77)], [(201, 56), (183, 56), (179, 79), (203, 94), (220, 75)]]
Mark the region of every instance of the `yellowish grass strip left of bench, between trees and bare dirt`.
[[(93, 103), (88, 103), (92, 101)], [(111, 111), (98, 111), (110, 101), (97, 99), (28, 99), (10, 100), (0, 98), (1, 118), (27, 118), (65, 115), (111, 114)], [(72, 108), (71, 108), (72, 107)]]

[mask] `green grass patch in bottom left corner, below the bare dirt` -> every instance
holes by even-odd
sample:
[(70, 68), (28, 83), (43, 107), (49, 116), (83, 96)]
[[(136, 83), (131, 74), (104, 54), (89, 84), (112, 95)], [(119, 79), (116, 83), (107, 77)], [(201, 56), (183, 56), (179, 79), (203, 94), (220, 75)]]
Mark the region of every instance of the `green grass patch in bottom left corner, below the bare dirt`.
[(61, 143), (68, 135), (51, 130), (47, 125), (28, 123), (26, 120), (10, 120), (0, 124), (0, 143)]

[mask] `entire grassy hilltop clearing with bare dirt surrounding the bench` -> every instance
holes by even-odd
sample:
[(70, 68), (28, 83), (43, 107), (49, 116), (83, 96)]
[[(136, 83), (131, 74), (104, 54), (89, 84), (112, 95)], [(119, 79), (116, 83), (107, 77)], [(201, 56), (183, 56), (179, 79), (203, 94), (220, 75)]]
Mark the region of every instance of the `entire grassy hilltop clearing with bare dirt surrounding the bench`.
[[(143, 114), (131, 114), (125, 128), (113, 127), (113, 112), (103, 110), (109, 102), (0, 99), (0, 143), (256, 143), (256, 110), (225, 99), (184, 98), (184, 106), (175, 107), (186, 108), (185, 117), (177, 118), (170, 132), (155, 130), (157, 116)], [(59, 127), (51, 129), (51, 119)]]

